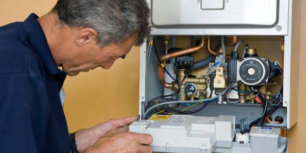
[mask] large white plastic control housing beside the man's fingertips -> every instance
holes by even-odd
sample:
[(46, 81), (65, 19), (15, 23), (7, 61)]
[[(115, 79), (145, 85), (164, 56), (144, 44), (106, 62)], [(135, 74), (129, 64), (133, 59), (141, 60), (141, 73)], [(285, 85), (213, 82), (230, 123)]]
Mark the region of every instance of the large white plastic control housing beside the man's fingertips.
[(214, 149), (216, 141), (232, 142), (234, 128), (235, 116), (172, 115), (165, 120), (136, 121), (130, 125), (131, 132), (150, 134), (154, 138), (152, 146), (200, 149)]

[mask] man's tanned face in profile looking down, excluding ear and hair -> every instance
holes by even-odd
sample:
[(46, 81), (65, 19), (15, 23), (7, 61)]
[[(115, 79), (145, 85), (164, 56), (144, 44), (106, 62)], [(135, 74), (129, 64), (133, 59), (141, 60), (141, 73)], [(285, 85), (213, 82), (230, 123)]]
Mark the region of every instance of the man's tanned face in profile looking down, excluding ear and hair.
[[(136, 35), (127, 38), (120, 44), (110, 44), (101, 48), (96, 41), (86, 45), (72, 47), (70, 58), (62, 64), (63, 70), (69, 76), (78, 75), (80, 72), (88, 72), (91, 69), (102, 67), (109, 69), (119, 59), (124, 59), (136, 42)], [(73, 51), (73, 52), (72, 52)]]

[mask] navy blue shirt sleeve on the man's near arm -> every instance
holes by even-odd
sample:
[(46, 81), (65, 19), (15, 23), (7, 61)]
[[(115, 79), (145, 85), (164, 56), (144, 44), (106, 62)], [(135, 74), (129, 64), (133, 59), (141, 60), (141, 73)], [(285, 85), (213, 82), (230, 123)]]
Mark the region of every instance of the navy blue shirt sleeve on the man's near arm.
[(0, 152), (43, 152), (47, 104), (42, 80), (0, 75)]

